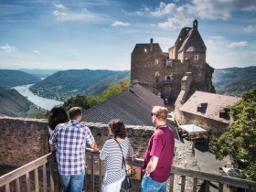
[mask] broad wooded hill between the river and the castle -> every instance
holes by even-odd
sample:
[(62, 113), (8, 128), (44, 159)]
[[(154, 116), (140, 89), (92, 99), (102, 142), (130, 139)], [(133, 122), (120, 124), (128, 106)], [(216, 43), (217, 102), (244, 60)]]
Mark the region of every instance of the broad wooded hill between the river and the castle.
[(30, 90), (46, 98), (65, 101), (77, 94), (100, 94), (110, 85), (129, 79), (129, 70), (69, 69), (48, 76)]

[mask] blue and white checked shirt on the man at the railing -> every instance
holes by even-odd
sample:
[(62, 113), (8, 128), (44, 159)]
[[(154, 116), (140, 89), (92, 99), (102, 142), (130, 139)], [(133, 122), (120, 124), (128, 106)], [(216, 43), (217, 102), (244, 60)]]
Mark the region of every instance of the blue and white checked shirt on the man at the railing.
[(95, 142), (94, 138), (87, 126), (75, 120), (60, 123), (49, 138), (49, 144), (57, 146), (59, 174), (64, 176), (80, 174), (85, 166), (86, 143), (93, 142)]

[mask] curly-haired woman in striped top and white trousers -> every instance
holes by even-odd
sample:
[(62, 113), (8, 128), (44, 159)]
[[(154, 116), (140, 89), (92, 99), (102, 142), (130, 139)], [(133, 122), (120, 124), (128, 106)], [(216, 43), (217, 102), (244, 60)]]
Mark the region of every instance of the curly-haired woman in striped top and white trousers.
[(102, 147), (100, 158), (106, 160), (106, 173), (102, 182), (102, 192), (119, 192), (125, 176), (123, 157), (133, 157), (133, 147), (126, 138), (123, 121), (112, 120), (109, 123), (108, 139)]

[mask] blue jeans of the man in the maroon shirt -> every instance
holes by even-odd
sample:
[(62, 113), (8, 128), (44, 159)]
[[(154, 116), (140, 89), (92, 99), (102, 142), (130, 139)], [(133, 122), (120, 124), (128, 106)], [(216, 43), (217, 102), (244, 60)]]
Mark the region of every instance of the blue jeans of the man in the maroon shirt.
[(150, 176), (144, 176), (142, 181), (142, 192), (165, 192), (167, 182), (159, 183)]

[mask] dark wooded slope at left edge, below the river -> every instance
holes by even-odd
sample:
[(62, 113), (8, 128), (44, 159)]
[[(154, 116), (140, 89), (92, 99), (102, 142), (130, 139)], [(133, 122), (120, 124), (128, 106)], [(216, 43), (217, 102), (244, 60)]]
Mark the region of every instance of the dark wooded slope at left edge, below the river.
[(30, 102), (18, 91), (0, 88), (0, 114), (12, 117), (25, 117)]

